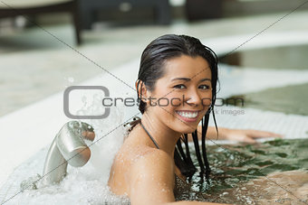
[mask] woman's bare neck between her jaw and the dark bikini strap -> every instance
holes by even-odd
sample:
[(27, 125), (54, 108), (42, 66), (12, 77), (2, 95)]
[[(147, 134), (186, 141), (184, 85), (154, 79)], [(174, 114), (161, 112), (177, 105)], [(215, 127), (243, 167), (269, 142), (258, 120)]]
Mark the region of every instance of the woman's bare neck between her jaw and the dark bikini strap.
[[(159, 149), (165, 151), (173, 158), (174, 150), (181, 134), (171, 130), (156, 117), (149, 116), (147, 112), (142, 115), (141, 123), (159, 145)], [(146, 133), (146, 135), (148, 134)], [(151, 141), (150, 138), (149, 141)]]

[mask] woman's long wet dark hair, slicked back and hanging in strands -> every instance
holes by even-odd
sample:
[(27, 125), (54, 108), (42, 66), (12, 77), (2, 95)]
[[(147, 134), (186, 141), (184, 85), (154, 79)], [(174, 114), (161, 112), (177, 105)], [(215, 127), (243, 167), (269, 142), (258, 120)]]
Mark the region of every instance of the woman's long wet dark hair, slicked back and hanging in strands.
[[(146, 110), (147, 104), (141, 100), (142, 96), (139, 93), (139, 88), (142, 90), (143, 83), (149, 91), (155, 89), (155, 83), (158, 79), (162, 78), (165, 73), (164, 64), (166, 61), (180, 57), (181, 55), (188, 55), (190, 57), (200, 56), (205, 59), (211, 70), (211, 85), (212, 85), (212, 101), (211, 105), (207, 110), (207, 114), (203, 116), (201, 120), (202, 132), (197, 133), (195, 130), (192, 133), (193, 142), (195, 145), (195, 151), (197, 155), (197, 161), (200, 167), (200, 173), (205, 174), (208, 179), (210, 173), (210, 167), (207, 161), (207, 149), (206, 149), (206, 135), (208, 119), (211, 111), (214, 110), (214, 105), (216, 101), (217, 94), (217, 55), (207, 46), (203, 45), (198, 39), (190, 37), (187, 35), (176, 35), (167, 34), (160, 36), (153, 42), (150, 42), (146, 49), (143, 51), (140, 61), (140, 70), (138, 73), (137, 81), (137, 95), (140, 101), (140, 112), (143, 114)], [(143, 83), (140, 84), (140, 80)], [(213, 112), (213, 118), (215, 126), (217, 128), (217, 123), (215, 119), (215, 114)], [(136, 125), (136, 124), (135, 124)], [(218, 131), (218, 130), (217, 130)], [(217, 133), (218, 134), (218, 133)], [(201, 135), (202, 144), (202, 155), (200, 153), (197, 135)], [(182, 140), (185, 144), (185, 151), (182, 147)], [(187, 177), (191, 177), (197, 168), (191, 160), (189, 147), (188, 147), (188, 135), (184, 134), (184, 137), (180, 137), (177, 142), (177, 147), (174, 153), (174, 160), (179, 170)]]

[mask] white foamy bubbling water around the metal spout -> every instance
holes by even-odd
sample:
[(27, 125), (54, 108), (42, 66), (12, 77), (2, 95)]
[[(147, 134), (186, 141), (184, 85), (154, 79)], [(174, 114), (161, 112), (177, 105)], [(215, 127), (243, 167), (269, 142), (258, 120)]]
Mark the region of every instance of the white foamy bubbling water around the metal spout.
[[(86, 99), (83, 98), (86, 105)], [(89, 103), (87, 104), (89, 105)], [(93, 95), (91, 108), (82, 107), (78, 110), (78, 115), (97, 115), (104, 111), (101, 107), (99, 95)], [(31, 182), (24, 183), (25, 187), (34, 188), (32, 190), (20, 191), (19, 184), (24, 179), (35, 180), (40, 177), (37, 173), (43, 171), (44, 158), (48, 147), (44, 148), (39, 154), (20, 165), (12, 174), (14, 179), (9, 184), (9, 191), (0, 200), (1, 204), (128, 204), (127, 197), (115, 196), (107, 186), (109, 172), (113, 158), (123, 144), (127, 128), (122, 126), (124, 123), (124, 107), (111, 107), (110, 116), (105, 119), (82, 120), (93, 126), (95, 139), (93, 142), (85, 141), (91, 149), (91, 158), (87, 164), (81, 168), (68, 166), (67, 175), (59, 184), (43, 186), (38, 181), (31, 185)], [(54, 171), (56, 172), (56, 170)], [(30, 184), (30, 186), (29, 186)], [(14, 188), (14, 189), (13, 189)], [(0, 191), (1, 192), (1, 191)], [(17, 194), (16, 194), (17, 193)], [(10, 199), (11, 198), (11, 199)]]

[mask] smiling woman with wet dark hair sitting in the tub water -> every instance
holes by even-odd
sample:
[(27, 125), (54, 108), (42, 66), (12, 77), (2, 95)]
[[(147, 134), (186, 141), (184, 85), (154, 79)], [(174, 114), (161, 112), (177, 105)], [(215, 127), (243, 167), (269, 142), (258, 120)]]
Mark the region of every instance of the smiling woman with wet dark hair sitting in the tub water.
[[(136, 89), (142, 116), (131, 122), (130, 134), (115, 156), (108, 184), (115, 194), (127, 195), (132, 204), (168, 204), (180, 200), (181, 189), (188, 186), (185, 180), (197, 172), (188, 149), (191, 138), (200, 174), (209, 177), (205, 140), (206, 135), (217, 136), (212, 127), (207, 133), (217, 94), (217, 56), (196, 38), (161, 36), (142, 53)], [(177, 105), (160, 102), (153, 106), (153, 98), (157, 99), (154, 102), (177, 99)], [(223, 138), (237, 132), (236, 135), (244, 137), (242, 141), (250, 139), (249, 135), (271, 135), (220, 130)], [(202, 154), (198, 140), (202, 142)]]

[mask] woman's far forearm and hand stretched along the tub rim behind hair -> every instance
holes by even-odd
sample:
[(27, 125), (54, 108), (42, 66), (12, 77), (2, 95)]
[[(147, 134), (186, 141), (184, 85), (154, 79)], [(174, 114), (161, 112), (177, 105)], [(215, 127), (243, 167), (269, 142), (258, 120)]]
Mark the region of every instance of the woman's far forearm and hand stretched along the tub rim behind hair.
[[(197, 126), (197, 132), (200, 134), (201, 131), (202, 127)], [(198, 137), (201, 138), (201, 135), (198, 135)], [(233, 140), (243, 143), (256, 143), (255, 138), (265, 137), (283, 137), (283, 135), (254, 129), (228, 129), (225, 127), (218, 127), (217, 137), (215, 126), (208, 126), (207, 128), (207, 139), (211, 140)], [(188, 141), (192, 141), (192, 137), (188, 137)]]

